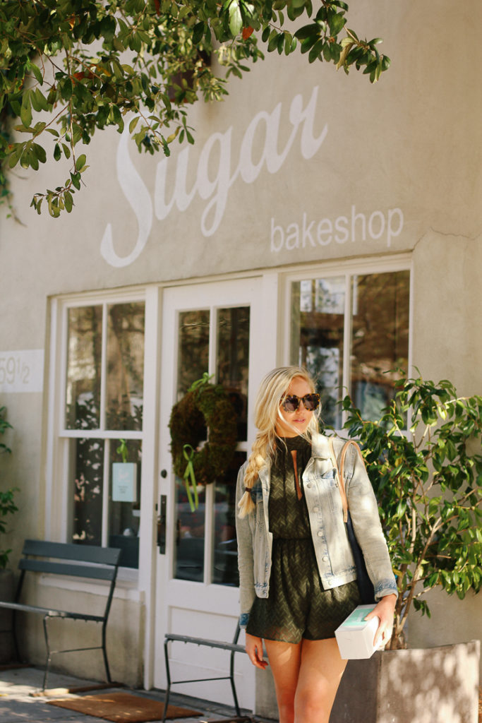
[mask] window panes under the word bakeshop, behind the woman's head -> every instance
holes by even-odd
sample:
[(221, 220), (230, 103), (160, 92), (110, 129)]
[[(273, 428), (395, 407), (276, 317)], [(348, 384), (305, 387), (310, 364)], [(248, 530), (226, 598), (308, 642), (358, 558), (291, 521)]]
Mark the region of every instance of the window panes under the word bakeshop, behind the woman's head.
[(319, 275), (291, 282), (291, 364), (314, 375), (322, 419), (340, 429), (347, 391), (375, 419), (408, 369), (410, 272)]

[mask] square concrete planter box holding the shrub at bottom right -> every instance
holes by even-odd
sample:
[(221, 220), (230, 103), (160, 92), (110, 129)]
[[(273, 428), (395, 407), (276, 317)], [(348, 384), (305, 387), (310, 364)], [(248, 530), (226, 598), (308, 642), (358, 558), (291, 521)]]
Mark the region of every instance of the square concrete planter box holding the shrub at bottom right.
[(330, 723), (477, 723), (480, 641), (350, 660)]

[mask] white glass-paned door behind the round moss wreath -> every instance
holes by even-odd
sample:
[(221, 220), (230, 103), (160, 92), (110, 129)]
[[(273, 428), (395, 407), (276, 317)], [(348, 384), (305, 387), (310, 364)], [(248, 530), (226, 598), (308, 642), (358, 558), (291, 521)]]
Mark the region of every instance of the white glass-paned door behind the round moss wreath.
[[(265, 324), (259, 279), (199, 283), (163, 293), (163, 346), (160, 399), (160, 495), (165, 495), (165, 554), (157, 554), (155, 687), (165, 688), (165, 632), (218, 640), (233, 638), (238, 619), (236, 479), (254, 429), (250, 412), (260, 377), (275, 366), (275, 344), (263, 348)], [(275, 311), (272, 312), (275, 315)], [(236, 452), (229, 469), (205, 487), (191, 512), (184, 479), (173, 474), (169, 419), (173, 404), (205, 373), (222, 384), (236, 414)], [(203, 442), (201, 442), (202, 444)], [(161, 547), (160, 549), (163, 549)], [(254, 669), (237, 656), (241, 706), (254, 704)], [(215, 677), (225, 667), (225, 651), (209, 657), (196, 646), (179, 646), (171, 658), (173, 679)], [(179, 687), (181, 691), (181, 686)], [(189, 695), (231, 703), (224, 681), (189, 684)]]

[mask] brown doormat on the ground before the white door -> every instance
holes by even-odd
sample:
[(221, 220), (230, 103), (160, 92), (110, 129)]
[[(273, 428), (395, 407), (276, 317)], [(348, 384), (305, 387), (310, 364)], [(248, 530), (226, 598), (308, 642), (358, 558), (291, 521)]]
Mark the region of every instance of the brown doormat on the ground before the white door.
[[(114, 723), (144, 723), (163, 719), (164, 703), (131, 693), (106, 693), (103, 696), (79, 696), (79, 698), (60, 698), (48, 701), (48, 705), (77, 711), (86, 716), (103, 718)], [(199, 711), (188, 708), (168, 706), (167, 719), (191, 718), (199, 716)]]

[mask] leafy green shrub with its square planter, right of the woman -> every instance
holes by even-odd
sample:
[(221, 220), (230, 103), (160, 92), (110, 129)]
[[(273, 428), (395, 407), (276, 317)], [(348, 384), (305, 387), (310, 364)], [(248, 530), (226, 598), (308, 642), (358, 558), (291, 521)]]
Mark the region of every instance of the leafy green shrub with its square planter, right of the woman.
[(361, 710), (363, 723), (476, 723), (480, 643), (410, 650), (405, 630), (410, 610), (430, 615), (429, 590), (462, 599), (481, 589), (482, 397), (418, 377), (395, 382), (376, 422), (348, 396), (343, 409), (379, 502), (398, 599), (390, 643), (349, 662), (330, 723), (359, 723)]

